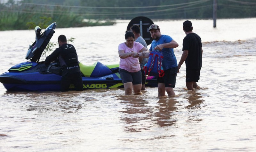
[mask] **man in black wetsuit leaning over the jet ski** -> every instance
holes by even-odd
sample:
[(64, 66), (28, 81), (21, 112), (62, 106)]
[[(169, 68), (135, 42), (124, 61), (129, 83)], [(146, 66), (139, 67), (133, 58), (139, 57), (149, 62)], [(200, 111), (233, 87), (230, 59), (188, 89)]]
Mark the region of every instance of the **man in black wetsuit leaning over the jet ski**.
[(71, 83), (75, 85), (76, 91), (83, 90), (83, 80), (80, 72), (76, 49), (73, 45), (67, 43), (65, 35), (58, 37), (59, 48), (54, 50), (45, 59), (45, 64), (50, 64), (52, 61), (59, 59), (62, 67), (61, 91), (68, 91)]

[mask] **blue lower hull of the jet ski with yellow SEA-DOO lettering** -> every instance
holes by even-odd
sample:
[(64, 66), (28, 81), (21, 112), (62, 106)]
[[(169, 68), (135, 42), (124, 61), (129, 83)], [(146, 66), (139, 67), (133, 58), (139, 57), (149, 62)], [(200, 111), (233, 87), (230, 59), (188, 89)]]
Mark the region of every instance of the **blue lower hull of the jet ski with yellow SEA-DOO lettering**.
[[(41, 73), (31, 73), (31, 75), (10, 75), (10, 73), (3, 73), (0, 75), (0, 82), (8, 91), (60, 91), (61, 76), (56, 74), (47, 74), (42, 76)], [(45, 80), (28, 80), (22, 77), (45, 77)], [(47, 78), (51, 78), (47, 79)], [(110, 89), (122, 88), (123, 83), (121, 79), (90, 79), (82, 77), (83, 89)], [(156, 87), (156, 79), (146, 80), (146, 86)], [(70, 90), (75, 90), (73, 84), (69, 86)]]

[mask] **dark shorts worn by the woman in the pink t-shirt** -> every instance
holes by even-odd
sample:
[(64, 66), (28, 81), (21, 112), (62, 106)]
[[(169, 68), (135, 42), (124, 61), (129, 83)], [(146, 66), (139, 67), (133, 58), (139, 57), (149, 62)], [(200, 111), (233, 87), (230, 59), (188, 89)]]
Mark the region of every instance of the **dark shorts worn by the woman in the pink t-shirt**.
[(123, 83), (132, 82), (133, 85), (141, 84), (141, 71), (129, 72), (119, 68), (119, 74)]

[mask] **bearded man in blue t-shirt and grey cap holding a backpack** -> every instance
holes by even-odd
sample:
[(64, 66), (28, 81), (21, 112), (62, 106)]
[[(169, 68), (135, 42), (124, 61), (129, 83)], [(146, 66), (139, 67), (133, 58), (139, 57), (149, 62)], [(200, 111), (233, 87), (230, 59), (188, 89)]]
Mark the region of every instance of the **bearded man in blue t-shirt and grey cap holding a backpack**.
[(159, 50), (164, 55), (162, 61), (164, 76), (157, 77), (158, 97), (165, 96), (165, 91), (168, 96), (175, 95), (173, 88), (176, 83), (178, 64), (173, 48), (178, 47), (179, 44), (170, 36), (162, 35), (159, 26), (156, 24), (150, 25), (149, 31), (151, 37), (154, 39), (149, 51)]

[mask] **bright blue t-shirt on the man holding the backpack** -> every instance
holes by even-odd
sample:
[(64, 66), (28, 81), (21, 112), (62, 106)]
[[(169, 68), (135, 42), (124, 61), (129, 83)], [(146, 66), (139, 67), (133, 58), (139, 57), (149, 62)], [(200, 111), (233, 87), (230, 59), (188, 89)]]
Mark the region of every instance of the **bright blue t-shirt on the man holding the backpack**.
[[(153, 49), (159, 44), (170, 43), (172, 40), (173, 39), (169, 35), (161, 35), (161, 37), (157, 41), (152, 41), (149, 51), (153, 51)], [(178, 66), (176, 56), (173, 52), (173, 48), (163, 48), (162, 52), (164, 55), (162, 61), (163, 70)]]

